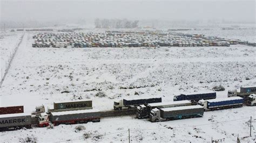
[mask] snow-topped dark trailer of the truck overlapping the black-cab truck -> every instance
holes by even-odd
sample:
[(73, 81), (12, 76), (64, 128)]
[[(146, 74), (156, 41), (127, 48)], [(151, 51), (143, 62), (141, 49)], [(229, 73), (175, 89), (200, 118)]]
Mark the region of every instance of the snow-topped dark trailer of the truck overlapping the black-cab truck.
[(187, 115), (196, 115), (204, 113), (204, 107), (200, 105), (195, 106), (181, 106), (172, 108), (171, 110), (168, 110), (170, 108), (163, 108), (160, 109), (160, 115), (161, 118), (171, 118), (171, 117), (177, 117), (177, 116), (187, 116)]

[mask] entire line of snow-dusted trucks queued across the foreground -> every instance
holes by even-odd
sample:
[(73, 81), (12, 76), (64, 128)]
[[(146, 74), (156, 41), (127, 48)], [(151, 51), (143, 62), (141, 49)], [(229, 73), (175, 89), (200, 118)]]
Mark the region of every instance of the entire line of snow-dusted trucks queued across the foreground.
[[(122, 99), (114, 102), (113, 109), (122, 112), (134, 111), (131, 113), (136, 114), (138, 119), (149, 118), (152, 122), (203, 117), (204, 111), (238, 108), (244, 103), (256, 105), (255, 89), (256, 87), (241, 87), (241, 90), (236, 92), (238, 96), (233, 95), (227, 98), (216, 98), (216, 93), (213, 92), (174, 96), (173, 102), (162, 102), (161, 97)], [(228, 92), (228, 96), (230, 94)], [(48, 112), (45, 112), (44, 105), (37, 106), (31, 114), (24, 113), (23, 106), (3, 107), (0, 108), (0, 131), (31, 128), (32, 125), (45, 127), (87, 123), (88, 121), (98, 122), (103, 112), (107, 114), (106, 111), (92, 109), (92, 101), (53, 103), (53, 109), (48, 109)]]

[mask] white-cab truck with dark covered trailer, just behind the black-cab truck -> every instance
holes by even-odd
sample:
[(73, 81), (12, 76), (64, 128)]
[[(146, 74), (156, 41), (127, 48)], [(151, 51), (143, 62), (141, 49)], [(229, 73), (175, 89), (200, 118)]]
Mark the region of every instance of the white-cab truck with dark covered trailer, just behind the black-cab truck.
[(126, 100), (122, 99), (119, 102), (114, 102), (114, 110), (124, 110), (136, 108), (138, 105), (149, 104), (149, 103), (158, 103), (162, 102), (162, 98), (148, 98), (148, 99), (131, 99)]

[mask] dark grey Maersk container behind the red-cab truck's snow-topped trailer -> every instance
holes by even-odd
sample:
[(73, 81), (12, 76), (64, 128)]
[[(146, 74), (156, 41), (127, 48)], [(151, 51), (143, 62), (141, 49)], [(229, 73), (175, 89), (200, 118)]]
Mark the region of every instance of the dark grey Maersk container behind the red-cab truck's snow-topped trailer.
[(54, 103), (54, 109), (77, 109), (77, 108), (91, 108), (92, 101), (73, 101), (73, 102), (61, 102)]

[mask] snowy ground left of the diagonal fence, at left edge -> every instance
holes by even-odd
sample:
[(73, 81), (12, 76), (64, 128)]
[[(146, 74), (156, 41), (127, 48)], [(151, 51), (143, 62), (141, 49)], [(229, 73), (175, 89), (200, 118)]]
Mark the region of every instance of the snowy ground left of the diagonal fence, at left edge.
[(1, 32), (0, 34), (0, 79), (4, 76), (6, 67), (21, 40), (22, 34), (22, 32)]

